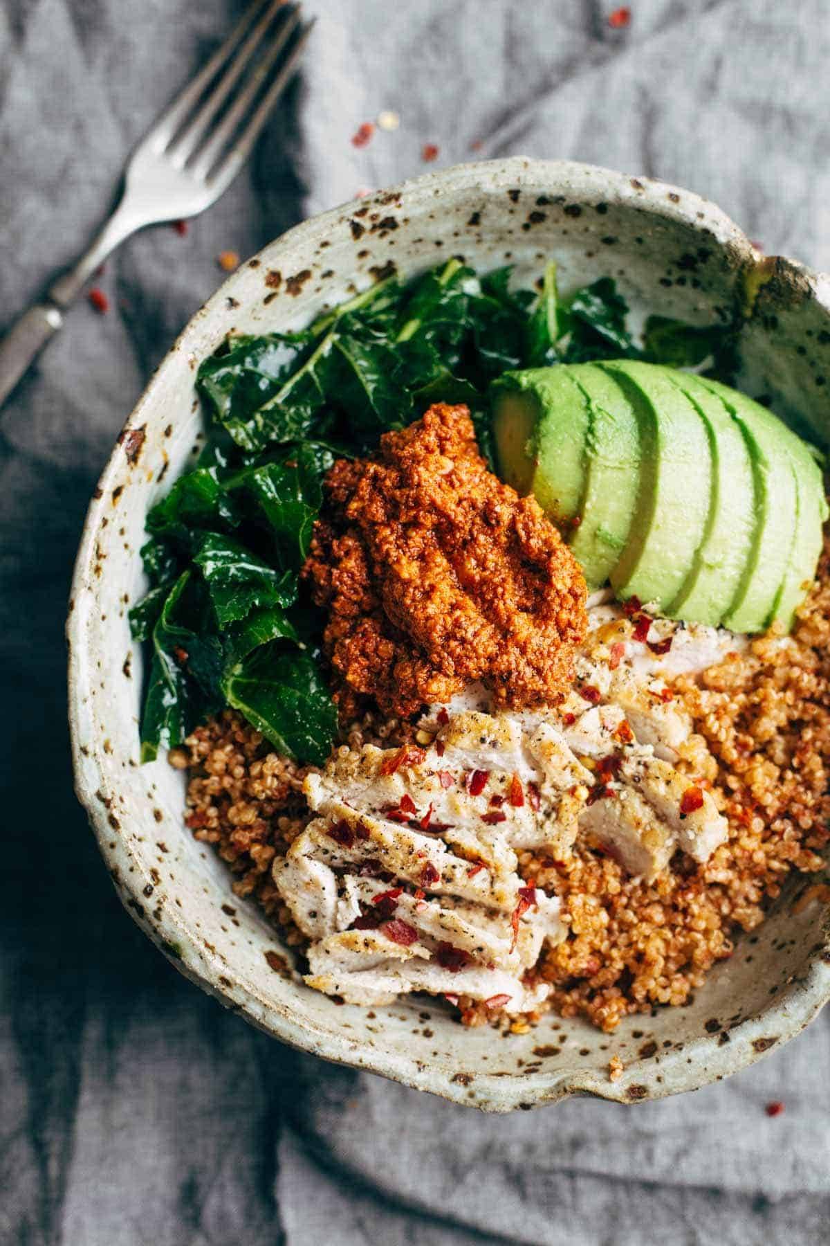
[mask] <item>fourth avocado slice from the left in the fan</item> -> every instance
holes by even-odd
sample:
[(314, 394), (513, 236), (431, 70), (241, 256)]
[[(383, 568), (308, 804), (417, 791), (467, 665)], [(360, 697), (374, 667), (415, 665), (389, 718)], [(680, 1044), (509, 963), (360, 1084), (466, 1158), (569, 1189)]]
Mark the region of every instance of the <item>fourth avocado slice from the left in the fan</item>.
[(738, 594), (755, 537), (749, 446), (740, 425), (699, 378), (673, 369), (666, 369), (666, 375), (698, 412), (712, 455), (712, 493), (703, 540), (668, 614), (717, 627)]

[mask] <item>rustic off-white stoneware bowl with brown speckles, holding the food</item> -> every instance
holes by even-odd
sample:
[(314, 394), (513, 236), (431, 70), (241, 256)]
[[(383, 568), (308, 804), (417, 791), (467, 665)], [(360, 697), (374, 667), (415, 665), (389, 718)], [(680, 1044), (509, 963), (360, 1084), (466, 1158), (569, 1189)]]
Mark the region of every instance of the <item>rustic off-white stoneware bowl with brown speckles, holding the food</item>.
[[(188, 978), (286, 1043), (494, 1111), (577, 1091), (626, 1103), (691, 1090), (780, 1047), (830, 997), (826, 911), (796, 902), (815, 880), (794, 880), (688, 1007), (630, 1018), (612, 1037), (549, 1015), (505, 1039), (464, 1029), (423, 999), (337, 1007), (275, 971), (285, 953), (276, 932), (234, 900), (225, 867), (182, 824), (182, 775), (164, 760), (138, 764), (143, 670), (127, 611), (143, 592), (144, 516), (204, 436), (193, 388), (199, 360), (229, 329), (300, 326), (382, 274), (453, 254), (482, 269), (513, 263), (524, 282), (553, 255), (564, 290), (611, 275), (638, 315), (707, 323), (738, 305), (747, 391), (770, 395), (781, 415), (799, 412), (816, 440), (830, 441), (830, 280), (764, 258), (686, 191), (515, 158), (433, 173), (307, 221), (193, 318), (101, 477), (68, 622), (77, 792), (133, 920)], [(612, 1054), (625, 1064), (615, 1083)]]

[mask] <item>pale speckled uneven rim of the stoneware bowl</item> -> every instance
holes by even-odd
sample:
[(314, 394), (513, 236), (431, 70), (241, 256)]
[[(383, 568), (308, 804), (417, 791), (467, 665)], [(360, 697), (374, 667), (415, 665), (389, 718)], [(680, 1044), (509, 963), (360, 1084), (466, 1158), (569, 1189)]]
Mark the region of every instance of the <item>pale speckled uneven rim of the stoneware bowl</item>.
[[(376, 199), (388, 202), (389, 197), (398, 194), (411, 194), (413, 191), (429, 192), (432, 194), (450, 193), (454, 187), (468, 184), (470, 179), (479, 186), (499, 184), (509, 186), (511, 182), (519, 183), (529, 174), (544, 179), (553, 191), (566, 186), (569, 196), (579, 198), (581, 193), (594, 196), (601, 192), (602, 198), (610, 204), (630, 204), (636, 202), (637, 207), (646, 208), (656, 217), (682, 222), (687, 226), (698, 227), (698, 221), (706, 217), (709, 228), (717, 228), (720, 244), (725, 248), (734, 248), (737, 253), (745, 258), (747, 263), (757, 262), (758, 253), (753, 249), (747, 235), (711, 202), (679, 189), (664, 182), (651, 181), (648, 178), (633, 178), (628, 174), (618, 173), (590, 164), (580, 164), (570, 161), (538, 161), (525, 157), (511, 157), (508, 159), (487, 161), (470, 164), (454, 166), (434, 173), (428, 173), (419, 178), (413, 178), (393, 187), (388, 191), (376, 192), (362, 201), (362, 206), (372, 204)], [(287, 231), (280, 238), (270, 243), (256, 259), (263, 264), (269, 262), (271, 252), (276, 247), (287, 243), (309, 242), (319, 234), (321, 227), (335, 228), (342, 219), (343, 207), (332, 208), (317, 217), (310, 218), (301, 224)], [(697, 219), (696, 219), (697, 218)], [(810, 287), (811, 297), (828, 312), (830, 320), (830, 278), (811, 272), (804, 265), (786, 260), (786, 265), (800, 274), (800, 279)], [(123, 444), (124, 435), (129, 430), (137, 430), (144, 422), (144, 410), (152, 402), (153, 392), (159, 384), (159, 376), (164, 374), (168, 363), (182, 351), (189, 351), (190, 341), (200, 321), (218, 313), (220, 308), (233, 307), (234, 290), (241, 279), (241, 270), (234, 273), (224, 282), (217, 293), (204, 304), (192, 318), (182, 334), (178, 336), (166, 360), (159, 365), (151, 379), (142, 397), (127, 419), (119, 437)], [(226, 312), (228, 326), (233, 321), (233, 313)], [(103, 470), (96, 490), (96, 497), (107, 495), (112, 488), (113, 480), (119, 468), (119, 455), (117, 445)], [(72, 582), (72, 601), (77, 601), (85, 591), (92, 588), (92, 567), (95, 561), (96, 536), (100, 527), (100, 516), (96, 516), (95, 503), (90, 506), (83, 532), (78, 547)], [(98, 846), (105, 862), (113, 867), (117, 862), (134, 860), (129, 837), (118, 840), (113, 850), (112, 824), (107, 809), (96, 796), (101, 791), (102, 768), (97, 750), (81, 749), (81, 705), (85, 690), (90, 687), (91, 655), (85, 652), (82, 644), (83, 621), (77, 611), (70, 609), (67, 619), (67, 639), (70, 643), (68, 662), (68, 718), (72, 744), (72, 763), (75, 773), (75, 787), (80, 802), (87, 811), (90, 824), (97, 837)], [(124, 851), (127, 857), (124, 857)], [(119, 888), (122, 902), (127, 907), (133, 920), (138, 921), (136, 907), (139, 905), (139, 888), (143, 877), (139, 871), (134, 875), (122, 871), (123, 885)], [(217, 958), (205, 957), (203, 941), (189, 928), (184, 917), (179, 916), (170, 906), (167, 906), (162, 917), (148, 931), (147, 926), (139, 923), (141, 928), (149, 933), (149, 937), (168, 957), (168, 959), (192, 982), (197, 983), (209, 994), (214, 996), (225, 1007), (241, 1013), (250, 1023), (264, 1032), (279, 1038), (289, 1045), (322, 1057), (326, 1060), (343, 1064), (351, 1068), (366, 1069), (382, 1074), (404, 1085), (416, 1089), (439, 1094), (445, 1099), (468, 1104), (464, 1096), (463, 1084), (454, 1085), (448, 1079), (438, 1077), (429, 1067), (421, 1060), (409, 1060), (397, 1053), (378, 1050), (377, 1048), (362, 1049), (352, 1038), (345, 1034), (325, 1033), (317, 1025), (309, 1023), (302, 1015), (301, 988), (297, 988), (296, 1011), (276, 1008), (265, 996), (249, 986), (235, 982), (231, 987), (223, 986), (220, 979), (228, 982), (228, 966)], [(686, 1055), (691, 1055), (687, 1064), (686, 1077), (681, 1077), (669, 1084), (668, 1080), (660, 1082), (651, 1078), (650, 1085), (632, 1088), (615, 1084), (609, 1079), (602, 1079), (594, 1070), (576, 1070), (575, 1073), (535, 1073), (526, 1078), (499, 1078), (477, 1073), (478, 1094), (475, 1106), (485, 1110), (508, 1111), (514, 1108), (531, 1108), (544, 1103), (555, 1103), (574, 1094), (590, 1094), (597, 1098), (631, 1103), (645, 1099), (663, 1098), (669, 1094), (684, 1090), (698, 1089), (708, 1083), (737, 1073), (760, 1059), (769, 1048), (780, 1045), (784, 1040), (795, 1037), (808, 1025), (823, 1006), (830, 1001), (830, 923), (825, 921), (824, 944), (816, 947), (810, 963), (809, 972), (798, 981), (795, 989), (789, 992), (784, 999), (765, 1008), (757, 1017), (748, 1018), (742, 1023), (739, 1032), (730, 1035), (730, 1042), (723, 1045), (718, 1040), (718, 1034), (702, 1037), (684, 1044)], [(173, 948), (189, 951), (190, 964), (183, 962), (182, 956), (173, 954)], [(198, 966), (198, 968), (194, 968)], [(775, 1032), (775, 1038), (770, 1039), (770, 1029)], [(699, 1073), (698, 1070), (702, 1070)], [(642, 1075), (643, 1082), (648, 1082), (648, 1075)], [(520, 1083), (520, 1084), (518, 1084)]]

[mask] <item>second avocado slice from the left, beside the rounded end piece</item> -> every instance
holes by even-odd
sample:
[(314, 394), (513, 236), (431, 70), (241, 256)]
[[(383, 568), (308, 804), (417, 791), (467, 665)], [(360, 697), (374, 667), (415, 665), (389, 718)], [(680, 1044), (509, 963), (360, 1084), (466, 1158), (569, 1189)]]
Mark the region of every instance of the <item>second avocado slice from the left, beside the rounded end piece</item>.
[(591, 588), (605, 584), (626, 547), (640, 483), (640, 429), (617, 381), (595, 364), (569, 373), (587, 399), (586, 481), (570, 546)]

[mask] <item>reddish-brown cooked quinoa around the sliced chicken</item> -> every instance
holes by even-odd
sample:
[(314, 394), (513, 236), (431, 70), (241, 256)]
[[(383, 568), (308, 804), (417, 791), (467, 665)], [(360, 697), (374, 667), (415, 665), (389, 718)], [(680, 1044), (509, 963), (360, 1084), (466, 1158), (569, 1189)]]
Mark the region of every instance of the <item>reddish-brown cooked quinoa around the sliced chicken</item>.
[[(729, 837), (704, 865), (677, 855), (652, 882), (577, 846), (566, 861), (525, 852), (520, 872), (562, 901), (569, 937), (536, 973), (553, 987), (539, 1012), (506, 1018), (460, 997), (465, 1024), (497, 1022), (525, 1033), (541, 1012), (585, 1015), (612, 1030), (628, 1013), (682, 1004), (734, 938), (765, 916), (790, 871), (824, 867), (830, 839), (830, 548), (820, 586), (793, 637), (759, 638), (699, 679), (673, 684), (697, 736), (681, 763), (712, 791)], [(346, 730), (352, 748), (403, 741), (413, 729), (366, 715)], [(289, 944), (302, 936), (271, 881), (271, 862), (311, 814), (301, 787), (311, 768), (279, 756), (226, 710), (198, 728), (170, 761), (189, 768), (187, 825), (228, 862), (240, 898), (254, 898)]]

